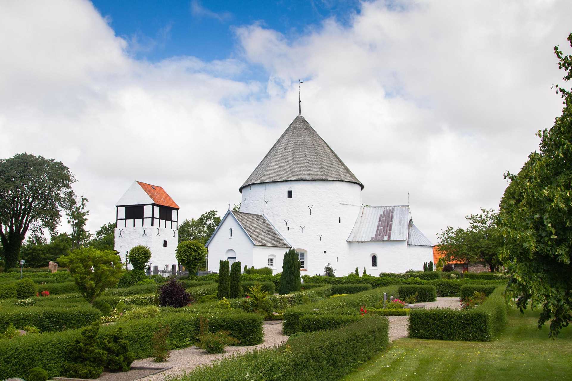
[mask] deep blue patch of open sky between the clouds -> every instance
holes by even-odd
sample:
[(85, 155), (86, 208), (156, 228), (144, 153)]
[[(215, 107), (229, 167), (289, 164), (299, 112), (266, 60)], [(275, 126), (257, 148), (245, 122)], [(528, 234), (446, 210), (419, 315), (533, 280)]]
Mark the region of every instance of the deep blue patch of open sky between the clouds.
[(94, 6), (116, 34), (130, 42), (136, 58), (155, 62), (190, 55), (204, 61), (236, 55), (233, 28), (260, 23), (289, 39), (320, 27), (334, 17), (347, 25), (359, 2), (313, 1), (116, 1), (96, 0)]

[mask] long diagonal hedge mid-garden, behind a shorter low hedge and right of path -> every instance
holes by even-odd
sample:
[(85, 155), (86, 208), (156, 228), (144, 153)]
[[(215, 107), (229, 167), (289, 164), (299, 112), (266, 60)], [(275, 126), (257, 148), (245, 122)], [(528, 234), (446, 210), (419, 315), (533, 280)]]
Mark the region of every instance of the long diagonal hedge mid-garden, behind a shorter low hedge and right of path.
[(397, 296), (397, 287), (374, 288), (370, 291), (358, 292), (358, 294), (336, 296), (335, 298), (327, 298), (315, 303), (288, 308), (283, 314), (283, 332), (285, 335), (292, 335), (300, 331), (300, 318), (308, 314), (351, 309), (355, 310), (355, 314), (358, 314), (361, 306), (375, 306), (378, 304), (379, 300), (383, 298), (383, 292), (387, 292), (388, 296)]

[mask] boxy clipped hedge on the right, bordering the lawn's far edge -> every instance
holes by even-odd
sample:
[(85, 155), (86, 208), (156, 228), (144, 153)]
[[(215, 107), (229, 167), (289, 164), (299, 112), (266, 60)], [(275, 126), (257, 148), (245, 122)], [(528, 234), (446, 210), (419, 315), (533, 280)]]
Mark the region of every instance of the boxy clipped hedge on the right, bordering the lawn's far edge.
[(416, 339), (490, 341), (506, 326), (507, 304), (497, 288), (472, 310), (430, 308), (412, 310), (409, 337)]

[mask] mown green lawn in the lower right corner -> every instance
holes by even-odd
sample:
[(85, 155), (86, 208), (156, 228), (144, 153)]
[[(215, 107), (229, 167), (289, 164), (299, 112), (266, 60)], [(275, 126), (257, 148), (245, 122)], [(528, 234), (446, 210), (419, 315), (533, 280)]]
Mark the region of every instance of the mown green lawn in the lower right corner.
[(511, 310), (501, 337), (486, 343), (399, 339), (343, 380), (571, 379), (572, 327), (552, 340), (537, 319), (538, 311)]

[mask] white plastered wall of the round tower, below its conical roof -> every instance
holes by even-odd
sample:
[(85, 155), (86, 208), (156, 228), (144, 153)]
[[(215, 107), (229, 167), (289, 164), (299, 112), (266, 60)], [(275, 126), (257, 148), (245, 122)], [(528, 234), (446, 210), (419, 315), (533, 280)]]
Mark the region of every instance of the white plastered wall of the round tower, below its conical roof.
[[(290, 199), (288, 190), (292, 191)], [(322, 274), (328, 262), (334, 268), (351, 267), (354, 259), (346, 239), (361, 204), (362, 191), (355, 183), (288, 181), (244, 187), (240, 211), (264, 214), (289, 243), (307, 250), (307, 271), (301, 274), (314, 275)]]

